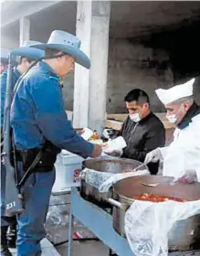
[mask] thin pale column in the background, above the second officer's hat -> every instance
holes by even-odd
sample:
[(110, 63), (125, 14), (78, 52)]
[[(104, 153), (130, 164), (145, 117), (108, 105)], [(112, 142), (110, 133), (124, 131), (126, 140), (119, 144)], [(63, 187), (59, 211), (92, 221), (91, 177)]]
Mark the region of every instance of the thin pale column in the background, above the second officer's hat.
[(28, 17), (22, 17), (19, 20), (19, 43), (23, 46), (24, 42), (30, 39), (30, 20)]

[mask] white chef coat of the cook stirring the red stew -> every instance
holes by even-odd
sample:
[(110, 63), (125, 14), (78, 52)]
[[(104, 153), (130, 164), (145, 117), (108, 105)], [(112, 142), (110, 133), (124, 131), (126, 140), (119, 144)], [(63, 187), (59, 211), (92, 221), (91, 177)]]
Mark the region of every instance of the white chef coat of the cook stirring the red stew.
[(184, 129), (174, 131), (174, 141), (161, 148), (163, 176), (180, 176), (185, 170), (195, 170), (200, 181), (200, 114)]

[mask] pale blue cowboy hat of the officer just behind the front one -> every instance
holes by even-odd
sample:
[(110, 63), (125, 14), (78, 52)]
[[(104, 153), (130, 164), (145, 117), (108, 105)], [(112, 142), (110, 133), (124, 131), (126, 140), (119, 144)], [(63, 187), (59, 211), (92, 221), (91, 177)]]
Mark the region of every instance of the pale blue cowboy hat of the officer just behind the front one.
[(32, 48), (34, 45), (41, 44), (38, 41), (26, 41), (23, 47), (14, 48), (11, 50), (12, 55), (24, 56), (30, 59), (41, 59), (44, 57), (44, 50)]

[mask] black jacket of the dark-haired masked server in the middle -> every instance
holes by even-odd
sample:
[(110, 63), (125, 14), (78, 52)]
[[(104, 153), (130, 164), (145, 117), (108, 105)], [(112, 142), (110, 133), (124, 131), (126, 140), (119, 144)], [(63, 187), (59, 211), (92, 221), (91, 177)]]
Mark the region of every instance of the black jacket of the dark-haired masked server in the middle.
[[(139, 123), (134, 123), (128, 117), (121, 127), (120, 136), (126, 141), (127, 147), (123, 149), (121, 157), (143, 162), (147, 153), (165, 144), (165, 130), (163, 123), (150, 112)], [(159, 163), (148, 165), (151, 174), (158, 172)]]

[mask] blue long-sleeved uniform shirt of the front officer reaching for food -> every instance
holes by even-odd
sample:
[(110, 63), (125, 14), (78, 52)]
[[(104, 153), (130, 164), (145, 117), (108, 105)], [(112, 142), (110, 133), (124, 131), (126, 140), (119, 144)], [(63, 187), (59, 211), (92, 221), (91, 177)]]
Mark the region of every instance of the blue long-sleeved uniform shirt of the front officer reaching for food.
[(74, 154), (88, 157), (94, 145), (72, 128), (64, 108), (59, 78), (41, 61), (26, 74), (11, 106), (11, 126), (16, 148), (42, 147), (45, 138)]

